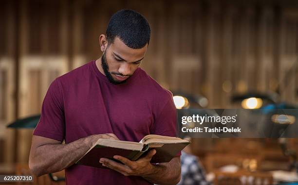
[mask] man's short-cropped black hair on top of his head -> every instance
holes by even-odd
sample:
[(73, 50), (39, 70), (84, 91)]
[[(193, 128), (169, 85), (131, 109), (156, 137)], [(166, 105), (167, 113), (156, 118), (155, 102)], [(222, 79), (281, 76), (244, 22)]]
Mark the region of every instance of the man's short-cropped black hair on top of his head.
[(106, 31), (109, 45), (116, 37), (130, 48), (140, 49), (150, 40), (150, 26), (140, 13), (123, 9), (112, 15)]

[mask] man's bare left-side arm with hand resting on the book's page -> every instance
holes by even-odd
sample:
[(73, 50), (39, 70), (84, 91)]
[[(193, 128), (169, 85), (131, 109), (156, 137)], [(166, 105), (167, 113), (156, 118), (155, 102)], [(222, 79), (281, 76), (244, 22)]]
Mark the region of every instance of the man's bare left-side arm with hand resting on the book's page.
[(33, 135), (29, 168), (37, 176), (61, 171), (75, 164), (99, 138), (118, 139), (113, 134), (90, 135), (61, 144), (61, 141), (55, 139)]

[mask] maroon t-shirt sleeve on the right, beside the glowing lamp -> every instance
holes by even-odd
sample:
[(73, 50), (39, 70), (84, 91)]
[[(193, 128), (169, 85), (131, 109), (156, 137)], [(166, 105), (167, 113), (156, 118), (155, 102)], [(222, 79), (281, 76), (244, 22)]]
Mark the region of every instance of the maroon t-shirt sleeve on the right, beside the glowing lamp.
[[(168, 100), (163, 107), (159, 116), (154, 121), (154, 135), (165, 135), (171, 137), (177, 137), (177, 111), (172, 97)], [(176, 156), (180, 156), (181, 152), (178, 152)]]

